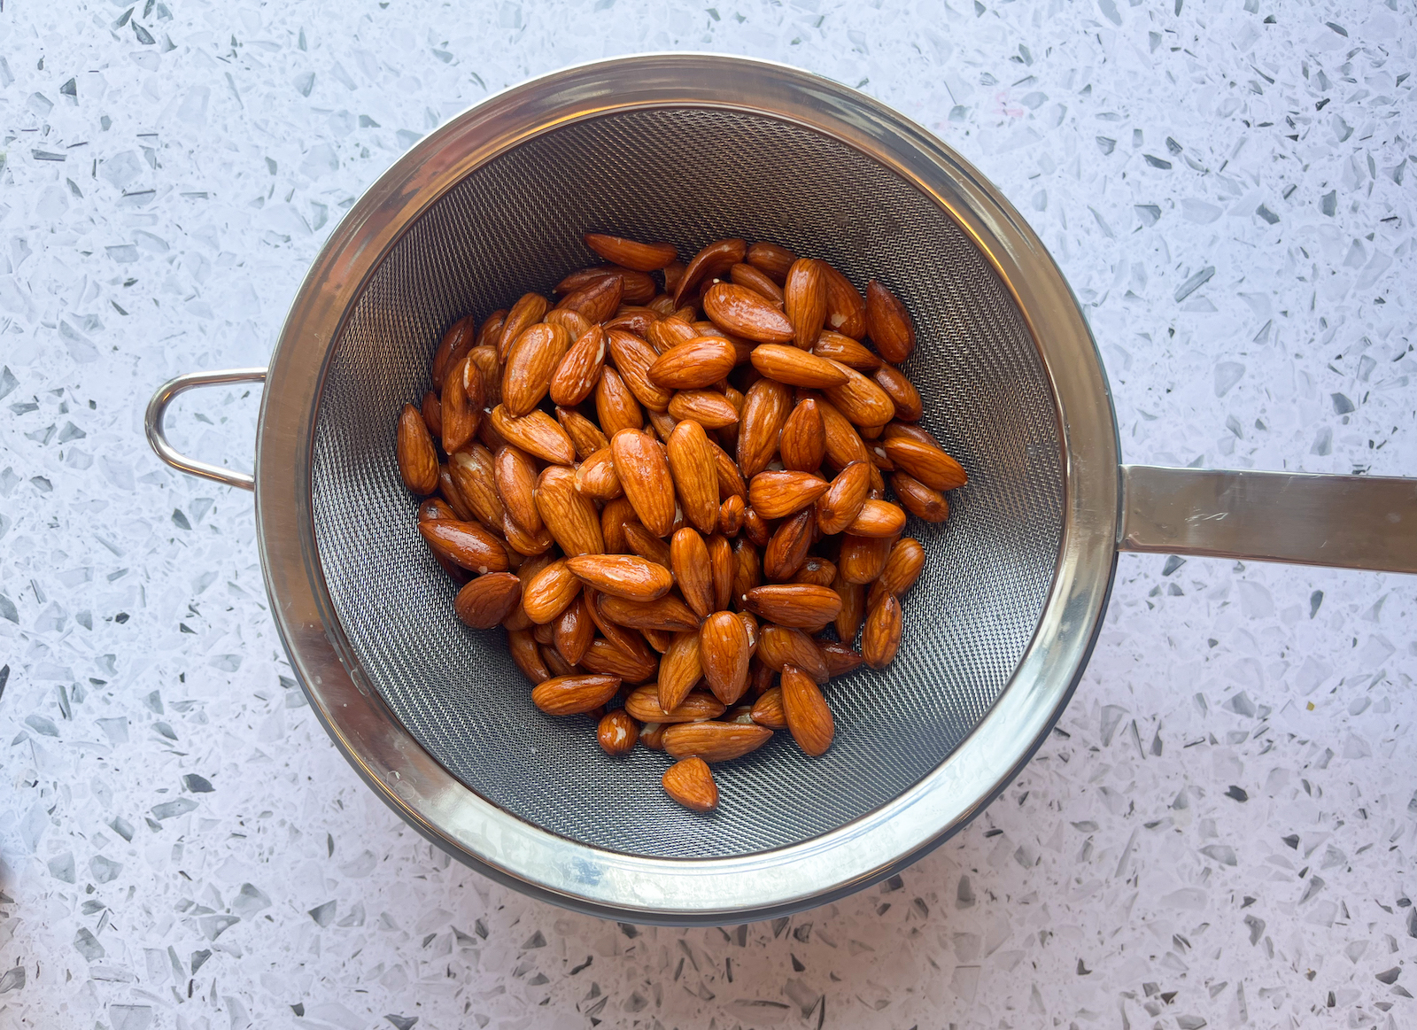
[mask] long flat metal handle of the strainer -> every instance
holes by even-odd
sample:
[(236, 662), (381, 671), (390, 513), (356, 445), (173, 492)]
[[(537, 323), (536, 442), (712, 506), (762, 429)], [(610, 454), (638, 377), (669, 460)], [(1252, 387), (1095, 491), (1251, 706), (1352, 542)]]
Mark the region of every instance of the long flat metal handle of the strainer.
[(1122, 466), (1119, 548), (1417, 572), (1417, 479)]

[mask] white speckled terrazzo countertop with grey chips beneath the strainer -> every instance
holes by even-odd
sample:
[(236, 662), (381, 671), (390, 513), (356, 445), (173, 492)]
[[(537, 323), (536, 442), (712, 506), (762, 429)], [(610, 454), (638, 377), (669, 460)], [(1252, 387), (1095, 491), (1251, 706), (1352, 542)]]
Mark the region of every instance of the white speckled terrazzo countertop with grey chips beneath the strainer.
[[(251, 496), (142, 407), (264, 364), (429, 128), (638, 50), (788, 61), (992, 177), (1134, 462), (1417, 475), (1407, 0), (0, 7), (0, 1026), (1417, 1026), (1417, 581), (1122, 555), (1051, 740), (966, 832), (791, 919), (529, 901), (359, 782)], [(251, 453), (256, 397), (179, 445)]]

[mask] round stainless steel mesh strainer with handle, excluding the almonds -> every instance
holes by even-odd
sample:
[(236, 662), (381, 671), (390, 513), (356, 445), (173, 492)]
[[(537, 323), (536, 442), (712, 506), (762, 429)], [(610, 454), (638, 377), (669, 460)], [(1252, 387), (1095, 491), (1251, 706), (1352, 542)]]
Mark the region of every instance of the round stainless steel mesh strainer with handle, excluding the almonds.
[[(920, 344), (925, 425), (971, 473), (886, 674), (833, 681), (825, 758), (779, 740), (711, 817), (666, 758), (606, 761), (533, 708), (500, 633), (466, 629), (394, 463), (400, 405), (458, 316), (597, 261), (581, 232), (768, 239), (881, 279)], [(254, 477), (177, 455), (181, 390), (265, 378)], [(272, 612), (313, 708), (419, 832), (530, 894), (639, 922), (762, 918), (857, 890), (1019, 772), (1087, 662), (1118, 550), (1417, 571), (1417, 480), (1121, 466), (1097, 350), (1017, 211), (898, 113), (778, 65), (649, 55), (500, 94), (410, 150), (343, 220), (269, 370), (186, 375), (149, 436), (256, 490)]]

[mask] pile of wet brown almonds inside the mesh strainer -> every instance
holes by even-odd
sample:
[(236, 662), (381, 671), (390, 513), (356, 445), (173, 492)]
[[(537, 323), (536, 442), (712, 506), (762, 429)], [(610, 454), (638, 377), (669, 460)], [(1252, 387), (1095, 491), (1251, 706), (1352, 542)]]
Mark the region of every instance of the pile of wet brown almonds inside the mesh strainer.
[(448, 330), (398, 469), (458, 616), (506, 628), (533, 703), (598, 718), (609, 755), (666, 751), (669, 796), (707, 812), (706, 762), (784, 728), (832, 745), (822, 686), (900, 645), (925, 561), (905, 513), (942, 521), (966, 477), (918, 425), (914, 323), (879, 282), (743, 239), (687, 265), (585, 242), (608, 264), (554, 306)]

